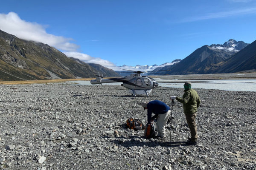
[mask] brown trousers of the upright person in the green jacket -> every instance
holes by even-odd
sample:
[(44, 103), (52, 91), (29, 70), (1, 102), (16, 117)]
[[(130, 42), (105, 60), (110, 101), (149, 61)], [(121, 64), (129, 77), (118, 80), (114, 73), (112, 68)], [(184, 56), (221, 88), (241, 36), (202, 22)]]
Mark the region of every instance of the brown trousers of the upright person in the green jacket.
[(190, 129), (191, 140), (193, 142), (197, 141), (197, 138), (198, 138), (197, 128), (196, 128), (196, 124), (195, 124), (196, 114), (197, 114), (197, 112), (185, 113), (186, 121), (187, 121), (187, 124), (189, 125), (189, 129)]

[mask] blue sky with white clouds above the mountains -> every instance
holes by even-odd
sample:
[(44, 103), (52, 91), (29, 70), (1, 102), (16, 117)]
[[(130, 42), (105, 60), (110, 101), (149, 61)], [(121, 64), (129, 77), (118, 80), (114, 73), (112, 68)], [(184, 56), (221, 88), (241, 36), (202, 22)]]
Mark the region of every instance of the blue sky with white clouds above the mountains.
[(2, 0), (0, 29), (115, 68), (256, 40), (256, 0)]

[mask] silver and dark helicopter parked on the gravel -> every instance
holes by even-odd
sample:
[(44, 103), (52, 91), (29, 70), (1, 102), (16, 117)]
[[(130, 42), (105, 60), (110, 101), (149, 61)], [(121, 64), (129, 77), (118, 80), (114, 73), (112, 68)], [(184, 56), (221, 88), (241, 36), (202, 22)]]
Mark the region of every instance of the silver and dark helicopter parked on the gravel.
[[(125, 70), (125, 69), (122, 69)], [(102, 83), (111, 83), (111, 82), (122, 82), (121, 86), (128, 88), (128, 92), (130, 94), (133, 94), (134, 97), (136, 97), (136, 94), (140, 95), (146, 95), (152, 91), (153, 88), (158, 87), (158, 83), (156, 80), (154, 80), (151, 77), (148, 76), (141, 76), (142, 73), (145, 73), (143, 71), (131, 71), (126, 70), (130, 72), (126, 73), (132, 73), (129, 76), (125, 77), (118, 77), (118, 78), (110, 78), (110, 79), (103, 79), (103, 75), (96, 75), (96, 79), (93, 79), (90, 81), (92, 85), (95, 84), (102, 84)]]

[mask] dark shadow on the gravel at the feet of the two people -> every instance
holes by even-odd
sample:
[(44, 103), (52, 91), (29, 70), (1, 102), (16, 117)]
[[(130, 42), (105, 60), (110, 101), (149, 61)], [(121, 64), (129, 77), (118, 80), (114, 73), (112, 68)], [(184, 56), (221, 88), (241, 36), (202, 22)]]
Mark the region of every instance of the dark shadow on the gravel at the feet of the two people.
[[(125, 139), (125, 140), (123, 140)], [(115, 140), (112, 140), (116, 145), (121, 145), (123, 147), (134, 147), (134, 146), (140, 146), (140, 147), (179, 147), (179, 146), (189, 146), (186, 144), (186, 141), (178, 141), (178, 142), (165, 142), (161, 140), (151, 140), (148, 139), (146, 142), (142, 141), (143, 137), (140, 136), (131, 136), (129, 138), (125, 138), (124, 136), (117, 137)]]

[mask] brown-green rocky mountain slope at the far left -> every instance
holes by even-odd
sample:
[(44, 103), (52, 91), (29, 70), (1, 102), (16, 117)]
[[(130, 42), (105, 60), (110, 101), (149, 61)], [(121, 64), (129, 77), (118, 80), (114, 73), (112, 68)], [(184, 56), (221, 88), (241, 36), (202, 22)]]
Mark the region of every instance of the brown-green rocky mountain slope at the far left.
[(97, 73), (47, 44), (21, 40), (0, 30), (0, 80), (88, 78)]

